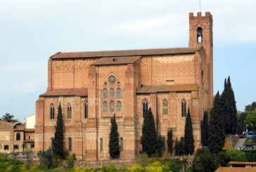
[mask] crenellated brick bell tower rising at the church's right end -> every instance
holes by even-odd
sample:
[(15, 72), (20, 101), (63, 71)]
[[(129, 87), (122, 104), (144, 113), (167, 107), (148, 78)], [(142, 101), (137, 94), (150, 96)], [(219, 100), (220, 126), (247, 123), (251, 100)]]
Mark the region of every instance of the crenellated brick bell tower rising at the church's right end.
[(207, 93), (207, 107), (213, 106), (213, 43), (212, 43), (212, 14), (205, 12), (189, 13), (189, 47), (202, 45), (206, 53), (206, 74), (205, 88)]

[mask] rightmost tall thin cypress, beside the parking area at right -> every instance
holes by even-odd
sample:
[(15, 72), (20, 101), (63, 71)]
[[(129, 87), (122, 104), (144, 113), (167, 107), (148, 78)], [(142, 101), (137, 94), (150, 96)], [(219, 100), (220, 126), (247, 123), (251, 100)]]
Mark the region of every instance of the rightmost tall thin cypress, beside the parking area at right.
[(237, 131), (236, 100), (235, 100), (235, 95), (233, 93), (233, 88), (231, 86), (230, 77), (228, 78), (228, 81), (227, 81), (227, 87), (229, 89), (229, 105), (231, 106), (230, 133), (236, 134), (236, 131)]

